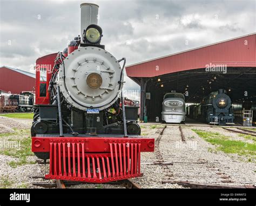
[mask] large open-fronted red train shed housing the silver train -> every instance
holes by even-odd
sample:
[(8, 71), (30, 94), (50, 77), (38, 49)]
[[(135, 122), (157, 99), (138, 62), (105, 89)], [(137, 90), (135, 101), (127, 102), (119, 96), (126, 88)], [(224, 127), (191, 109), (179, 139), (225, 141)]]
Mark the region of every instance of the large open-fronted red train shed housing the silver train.
[(256, 33), (126, 67), (140, 85), (140, 120), (161, 119), (161, 102), (171, 91), (186, 103), (199, 103), (224, 88), (233, 101), (256, 100)]

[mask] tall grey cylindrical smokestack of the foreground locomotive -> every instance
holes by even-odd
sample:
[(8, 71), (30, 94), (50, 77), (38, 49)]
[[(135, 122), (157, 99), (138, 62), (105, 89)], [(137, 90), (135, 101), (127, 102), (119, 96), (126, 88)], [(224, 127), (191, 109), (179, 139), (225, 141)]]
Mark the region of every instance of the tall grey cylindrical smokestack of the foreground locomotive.
[(97, 4), (83, 3), (81, 8), (81, 40), (83, 40), (83, 32), (90, 24), (98, 24), (98, 9)]

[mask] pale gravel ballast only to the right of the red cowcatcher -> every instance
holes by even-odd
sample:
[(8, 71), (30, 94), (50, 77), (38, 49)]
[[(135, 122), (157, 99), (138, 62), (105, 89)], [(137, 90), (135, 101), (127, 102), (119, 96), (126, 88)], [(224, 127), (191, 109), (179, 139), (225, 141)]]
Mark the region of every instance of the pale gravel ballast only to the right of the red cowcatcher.
[[(183, 126), (186, 139), (184, 143), (181, 141), (178, 126), (167, 125), (159, 142), (159, 150), (164, 162), (173, 162), (173, 165), (167, 165), (164, 169), (159, 165), (143, 165), (144, 176), (136, 178), (135, 182), (143, 188), (181, 187), (176, 184), (162, 184), (163, 180), (224, 185), (256, 184), (255, 163), (240, 161), (237, 155), (221, 151), (209, 152), (208, 148), (215, 149), (215, 146), (201, 139), (192, 129), (219, 132), (226, 136), (236, 135), (218, 127)], [(147, 137), (157, 138), (157, 136), (157, 134), (149, 134)], [(238, 139), (238, 136), (236, 138)], [(142, 162), (156, 160), (154, 153), (142, 153)], [(224, 180), (230, 180), (231, 183), (223, 183)]]

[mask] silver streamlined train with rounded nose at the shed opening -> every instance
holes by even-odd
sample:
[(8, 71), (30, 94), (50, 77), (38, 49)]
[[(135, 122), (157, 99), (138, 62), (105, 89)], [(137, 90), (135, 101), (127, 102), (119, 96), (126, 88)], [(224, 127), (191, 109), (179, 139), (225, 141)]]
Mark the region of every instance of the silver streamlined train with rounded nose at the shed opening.
[(163, 99), (162, 120), (166, 123), (185, 121), (185, 98), (181, 93), (166, 93)]

